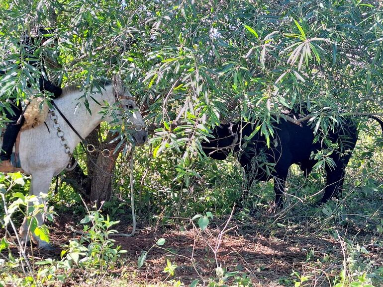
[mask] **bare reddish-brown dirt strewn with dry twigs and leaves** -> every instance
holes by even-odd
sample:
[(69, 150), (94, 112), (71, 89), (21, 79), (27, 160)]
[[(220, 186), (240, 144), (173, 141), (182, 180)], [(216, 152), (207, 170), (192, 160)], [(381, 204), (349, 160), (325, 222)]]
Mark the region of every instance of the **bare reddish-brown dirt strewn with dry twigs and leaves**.
[[(74, 221), (78, 222), (70, 216), (61, 216), (50, 226), (54, 250), (38, 251), (34, 248), (33, 256), (60, 259), (61, 246), (80, 236), (72, 231), (73, 228), (81, 230)], [(254, 286), (291, 286), (294, 280), (298, 280), (293, 271), (309, 275), (311, 284), (307, 286), (330, 286), (342, 269), (344, 246), (331, 236), (307, 236), (309, 232), (302, 229), (278, 226), (265, 230), (259, 223), (244, 225), (233, 219), (226, 227), (231, 230), (219, 239), (224, 223), (212, 222), (203, 232), (190, 224), (180, 225), (178, 230), (174, 226), (156, 228), (141, 224), (134, 237), (115, 238), (116, 244), (127, 253), (123, 255), (123, 264), (112, 270), (111, 274), (116, 278), (124, 275), (125, 280), (131, 282), (126, 286), (160, 286), (171, 279), (189, 286), (194, 279), (200, 279), (200, 282), (202, 279), (216, 280), (215, 268), (218, 264), (227, 272), (246, 274)], [(129, 224), (120, 223), (117, 229), (128, 232), (124, 230), (126, 226)], [(312, 233), (315, 234), (315, 231)], [(164, 238), (165, 244), (152, 248), (144, 266), (138, 269), (137, 260), (141, 252), (148, 251), (159, 238)], [(383, 266), (382, 248), (371, 245), (368, 249), (366, 256), (375, 258), (376, 265)], [(13, 252), (17, 255), (15, 247)], [(32, 255), (30, 249), (27, 253)], [(163, 272), (167, 259), (178, 266), (174, 277), (167, 278)]]

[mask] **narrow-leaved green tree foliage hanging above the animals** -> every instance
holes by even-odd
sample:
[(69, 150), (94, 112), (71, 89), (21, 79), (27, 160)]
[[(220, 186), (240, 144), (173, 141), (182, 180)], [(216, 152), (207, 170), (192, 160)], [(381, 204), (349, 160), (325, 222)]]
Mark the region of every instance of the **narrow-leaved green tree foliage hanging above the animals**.
[(49, 75), (89, 88), (121, 73), (155, 133), (154, 156), (179, 152), (180, 177), (195, 175), (199, 141), (223, 120), (243, 118), (272, 136), (270, 122), (301, 103), (323, 131), (344, 116), (381, 115), (379, 1), (28, 3), (0, 4), (0, 53), (4, 63), (17, 63), (4, 64), (14, 74), (1, 79), (1, 100), (11, 92), (26, 97), (24, 79), (38, 74), (19, 60), (19, 35), (53, 23), (62, 69)]

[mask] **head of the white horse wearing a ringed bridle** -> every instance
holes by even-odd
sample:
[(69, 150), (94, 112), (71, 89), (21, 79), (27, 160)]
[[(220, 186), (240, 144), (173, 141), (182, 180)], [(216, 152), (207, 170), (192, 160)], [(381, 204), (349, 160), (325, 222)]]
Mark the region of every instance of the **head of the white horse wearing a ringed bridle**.
[(115, 102), (128, 115), (129, 126), (133, 129), (132, 137), (136, 145), (143, 145), (148, 140), (148, 132), (144, 119), (135, 103), (135, 99), (130, 92), (123, 87), (119, 77), (113, 76), (113, 94)]

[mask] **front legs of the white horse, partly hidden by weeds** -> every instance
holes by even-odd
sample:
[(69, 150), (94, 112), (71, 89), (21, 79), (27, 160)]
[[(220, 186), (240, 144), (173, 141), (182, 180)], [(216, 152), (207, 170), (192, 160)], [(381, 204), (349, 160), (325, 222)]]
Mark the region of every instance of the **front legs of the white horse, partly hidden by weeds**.
[[(51, 173), (46, 171), (41, 171), (37, 173), (32, 174), (31, 179), (31, 189), (30, 192), (33, 192), (33, 195), (37, 198), (37, 205), (44, 205), (45, 208), (45, 198), (44, 195), (49, 191), (49, 187), (52, 182)], [(42, 194), (43, 197), (40, 196)], [(36, 214), (37, 224), (38, 226), (41, 226), (44, 223), (44, 216), (43, 216), (44, 210)], [(28, 226), (27, 226), (27, 220), (24, 218), (24, 222), (20, 227), (20, 233), (22, 233), (23, 239), (28, 239)], [(51, 245), (49, 242), (43, 241), (40, 239), (40, 237), (33, 235), (34, 239), (38, 242), (39, 248), (49, 248)]]

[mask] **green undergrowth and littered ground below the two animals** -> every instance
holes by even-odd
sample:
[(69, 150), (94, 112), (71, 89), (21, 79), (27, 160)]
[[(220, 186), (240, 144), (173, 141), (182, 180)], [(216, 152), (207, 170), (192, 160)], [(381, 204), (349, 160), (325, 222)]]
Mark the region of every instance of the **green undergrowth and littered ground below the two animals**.
[[(113, 199), (98, 210), (88, 210), (70, 186), (61, 185), (49, 201), (56, 213), (50, 209), (49, 218), (70, 215), (64, 229), (74, 233), (56, 245), (59, 255), (40, 256), (20, 245), (12, 224), (25, 215), (33, 222), (42, 207), (26, 195), (25, 177), (1, 176), (0, 286), (383, 286), (383, 158), (371, 141), (361, 141), (365, 147), (355, 149), (341, 198), (319, 206), (322, 171), (304, 178), (293, 166), (282, 211), (273, 207), (272, 182), (254, 183), (242, 202), (249, 187), (232, 156), (195, 161), (200, 176), (186, 185), (175, 179), (176, 154), (165, 151), (147, 162), (148, 148), (138, 149), (138, 226), (162, 237), (151, 237), (136, 253), (113, 237), (131, 224), (128, 181), (115, 186)], [(27, 213), (28, 202), (33, 209)], [(48, 224), (53, 235), (55, 224)], [(30, 227), (50, 240), (48, 228)], [(128, 242), (140, 244), (145, 235), (137, 236)], [(252, 256), (245, 251), (249, 246), (257, 250)], [(148, 280), (153, 266), (158, 275)]]

